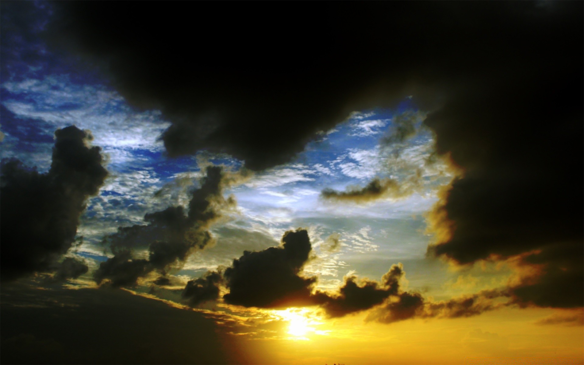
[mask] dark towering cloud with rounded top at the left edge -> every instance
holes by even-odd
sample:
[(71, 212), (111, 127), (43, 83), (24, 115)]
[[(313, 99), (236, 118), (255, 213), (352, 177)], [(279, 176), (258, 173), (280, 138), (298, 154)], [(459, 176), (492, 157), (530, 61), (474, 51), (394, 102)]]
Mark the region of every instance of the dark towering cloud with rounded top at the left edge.
[[(47, 173), (28, 169), (16, 159), (2, 161), (2, 280), (53, 269), (71, 248), (86, 199), (98, 193), (107, 176), (100, 148), (88, 147), (91, 140), (88, 131), (75, 126), (55, 131)], [(65, 274), (71, 267), (61, 268)]]

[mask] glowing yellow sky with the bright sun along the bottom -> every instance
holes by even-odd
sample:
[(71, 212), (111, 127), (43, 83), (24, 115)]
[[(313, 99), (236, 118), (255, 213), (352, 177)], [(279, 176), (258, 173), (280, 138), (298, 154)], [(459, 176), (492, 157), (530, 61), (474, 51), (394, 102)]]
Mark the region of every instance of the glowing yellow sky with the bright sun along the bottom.
[(293, 315), (287, 318), (292, 319), (292, 331), (282, 324), (279, 333), (270, 335), (275, 338), (244, 335), (239, 340), (258, 363), (582, 364), (581, 325), (537, 323), (553, 315), (581, 312), (505, 308), (471, 318), (413, 319), (390, 325), (364, 322), (366, 314), (360, 314), (312, 318), (312, 324), (305, 322), (309, 328), (305, 332), (303, 325), (294, 324)]

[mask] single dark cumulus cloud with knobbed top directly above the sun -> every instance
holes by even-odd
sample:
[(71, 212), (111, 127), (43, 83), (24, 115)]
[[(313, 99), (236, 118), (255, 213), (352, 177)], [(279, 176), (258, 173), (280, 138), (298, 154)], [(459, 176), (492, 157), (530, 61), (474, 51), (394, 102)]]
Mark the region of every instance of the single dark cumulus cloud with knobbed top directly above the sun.
[(298, 275), (312, 249), (306, 230), (287, 231), (282, 245), (263, 251), (244, 251), (225, 269), (227, 303), (244, 307), (276, 308), (311, 304), (316, 278)]

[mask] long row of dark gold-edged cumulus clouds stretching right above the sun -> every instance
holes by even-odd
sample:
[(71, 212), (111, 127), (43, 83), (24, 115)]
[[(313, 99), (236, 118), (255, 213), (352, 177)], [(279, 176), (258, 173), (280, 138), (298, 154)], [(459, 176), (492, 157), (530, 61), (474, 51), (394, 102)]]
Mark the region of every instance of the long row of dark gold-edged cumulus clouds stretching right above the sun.
[[(338, 239), (338, 237), (334, 237)], [(391, 323), (409, 318), (458, 318), (512, 305), (506, 290), (483, 290), (447, 301), (434, 301), (422, 294), (406, 291), (404, 266), (392, 265), (380, 281), (346, 276), (336, 290), (315, 290), (317, 277), (303, 276), (304, 266), (312, 258), (307, 230), (284, 233), (281, 245), (262, 251), (244, 251), (232, 266), (207, 272), (190, 280), (182, 297), (193, 307), (217, 300), (221, 287), (228, 291), (223, 300), (244, 307), (285, 308), (318, 305), (328, 317), (371, 310), (367, 321)], [(499, 300), (499, 301), (498, 301)]]

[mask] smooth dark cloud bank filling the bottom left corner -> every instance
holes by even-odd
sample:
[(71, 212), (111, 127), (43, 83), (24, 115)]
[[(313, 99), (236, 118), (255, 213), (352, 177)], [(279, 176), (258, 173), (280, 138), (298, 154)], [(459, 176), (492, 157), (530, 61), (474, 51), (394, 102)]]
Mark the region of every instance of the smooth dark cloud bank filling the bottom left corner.
[(39, 290), (35, 284), (17, 284), (2, 285), (3, 364), (241, 361), (225, 351), (230, 336), (200, 313), (123, 290)]

